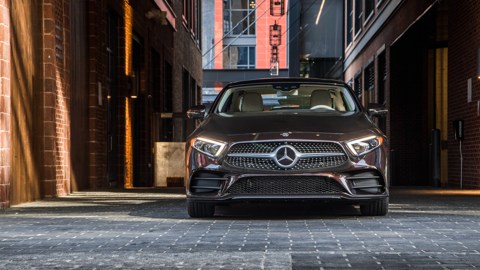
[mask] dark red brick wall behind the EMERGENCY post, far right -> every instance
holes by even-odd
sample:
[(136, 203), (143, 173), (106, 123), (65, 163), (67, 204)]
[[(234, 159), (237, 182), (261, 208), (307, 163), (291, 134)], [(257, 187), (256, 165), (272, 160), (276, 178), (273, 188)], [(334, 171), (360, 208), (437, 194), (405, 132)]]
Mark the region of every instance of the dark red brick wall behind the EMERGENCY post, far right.
[[(448, 178), (460, 186), (460, 142), (452, 122), (465, 121), (463, 187), (480, 189), (480, 79), (477, 78), (477, 48), (480, 48), (480, 2), (451, 4), (448, 17)], [(467, 99), (467, 81), (472, 80), (472, 102)]]

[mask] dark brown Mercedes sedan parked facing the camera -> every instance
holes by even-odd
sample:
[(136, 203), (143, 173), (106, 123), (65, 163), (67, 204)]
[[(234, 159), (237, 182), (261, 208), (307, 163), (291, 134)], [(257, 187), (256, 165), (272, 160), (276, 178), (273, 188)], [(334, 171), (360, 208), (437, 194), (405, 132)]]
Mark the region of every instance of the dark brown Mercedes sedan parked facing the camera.
[(387, 139), (341, 81), (275, 78), (230, 83), (186, 146), (188, 213), (212, 217), (235, 202), (340, 201), (367, 216), (388, 211)]

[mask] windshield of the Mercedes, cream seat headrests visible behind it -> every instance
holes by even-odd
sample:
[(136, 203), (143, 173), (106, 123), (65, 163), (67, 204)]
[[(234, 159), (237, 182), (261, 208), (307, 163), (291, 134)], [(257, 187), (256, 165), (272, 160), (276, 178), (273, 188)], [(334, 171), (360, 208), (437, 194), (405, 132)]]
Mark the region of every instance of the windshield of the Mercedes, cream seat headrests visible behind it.
[(273, 110), (357, 111), (347, 88), (322, 84), (237, 86), (220, 97), (215, 112)]

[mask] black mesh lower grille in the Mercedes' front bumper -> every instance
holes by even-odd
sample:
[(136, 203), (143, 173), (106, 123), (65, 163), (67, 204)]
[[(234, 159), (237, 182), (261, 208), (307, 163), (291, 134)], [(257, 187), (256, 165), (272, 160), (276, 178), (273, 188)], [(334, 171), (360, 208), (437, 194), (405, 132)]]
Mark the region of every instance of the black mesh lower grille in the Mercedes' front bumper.
[(233, 184), (227, 193), (297, 194), (347, 192), (338, 182), (325, 176), (248, 177)]

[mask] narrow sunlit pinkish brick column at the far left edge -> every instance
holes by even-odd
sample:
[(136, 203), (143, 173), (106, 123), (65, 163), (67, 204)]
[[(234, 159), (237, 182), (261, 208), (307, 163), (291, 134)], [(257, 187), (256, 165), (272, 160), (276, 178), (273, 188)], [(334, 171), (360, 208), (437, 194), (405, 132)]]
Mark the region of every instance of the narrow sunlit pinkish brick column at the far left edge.
[(0, 0), (0, 209), (10, 207), (10, 5)]

